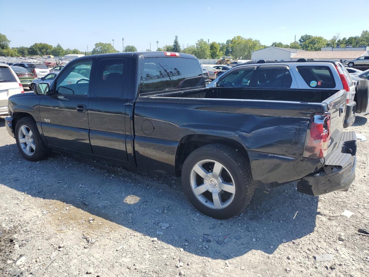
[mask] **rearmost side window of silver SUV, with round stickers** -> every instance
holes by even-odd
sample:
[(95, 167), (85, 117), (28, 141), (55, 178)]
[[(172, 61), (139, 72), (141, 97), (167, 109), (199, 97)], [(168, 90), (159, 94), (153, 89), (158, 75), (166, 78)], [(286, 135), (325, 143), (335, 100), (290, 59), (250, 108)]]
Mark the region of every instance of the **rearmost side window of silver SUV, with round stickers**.
[(328, 66), (296, 66), (297, 71), (310, 88), (331, 89), (336, 87), (334, 76)]

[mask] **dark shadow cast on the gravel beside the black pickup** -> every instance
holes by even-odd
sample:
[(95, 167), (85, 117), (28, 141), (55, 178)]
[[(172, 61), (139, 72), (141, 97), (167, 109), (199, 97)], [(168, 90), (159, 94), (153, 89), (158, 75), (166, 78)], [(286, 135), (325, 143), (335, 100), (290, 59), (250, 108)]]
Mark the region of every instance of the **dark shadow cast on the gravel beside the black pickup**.
[[(280, 244), (304, 237), (315, 227), (318, 198), (298, 193), (292, 184), (270, 191), (258, 188), (244, 215), (217, 220), (189, 204), (178, 178), (91, 160), (82, 163), (58, 153), (32, 163), (21, 157), (15, 144), (0, 147), (0, 164), (0, 183), (10, 188), (72, 204), (142, 235), (214, 259), (230, 259), (252, 249), (271, 254)], [(52, 208), (44, 216), (57, 220), (68, 215), (62, 211)], [(85, 228), (78, 215), (73, 224)], [(86, 232), (101, 233), (98, 228), (86, 228)]]

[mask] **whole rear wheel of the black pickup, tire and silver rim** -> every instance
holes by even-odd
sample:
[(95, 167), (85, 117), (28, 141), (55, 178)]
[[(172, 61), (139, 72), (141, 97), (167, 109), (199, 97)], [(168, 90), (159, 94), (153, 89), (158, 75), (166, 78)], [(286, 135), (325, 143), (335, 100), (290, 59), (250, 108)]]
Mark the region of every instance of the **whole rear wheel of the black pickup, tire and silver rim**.
[(187, 157), (182, 186), (196, 209), (218, 219), (238, 215), (254, 195), (250, 164), (222, 144), (205, 145)]

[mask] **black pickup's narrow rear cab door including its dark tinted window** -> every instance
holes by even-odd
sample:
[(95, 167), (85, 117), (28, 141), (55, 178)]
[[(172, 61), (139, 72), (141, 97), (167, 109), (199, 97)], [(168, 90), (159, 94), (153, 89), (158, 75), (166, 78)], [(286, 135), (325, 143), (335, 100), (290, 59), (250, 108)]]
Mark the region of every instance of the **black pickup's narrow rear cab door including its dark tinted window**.
[(125, 105), (130, 58), (120, 55), (96, 61), (96, 77), (88, 108), (90, 143), (95, 155), (128, 161)]

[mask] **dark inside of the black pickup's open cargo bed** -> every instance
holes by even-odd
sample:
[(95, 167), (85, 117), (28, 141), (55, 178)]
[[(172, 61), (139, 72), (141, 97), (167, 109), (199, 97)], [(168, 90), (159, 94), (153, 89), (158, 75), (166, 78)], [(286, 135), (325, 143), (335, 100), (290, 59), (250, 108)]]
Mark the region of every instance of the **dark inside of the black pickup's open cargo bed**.
[(273, 89), (273, 88), (205, 88), (189, 92), (156, 94), (161, 97), (211, 98), (211, 99), (255, 99), (320, 103), (337, 93), (326, 89)]

